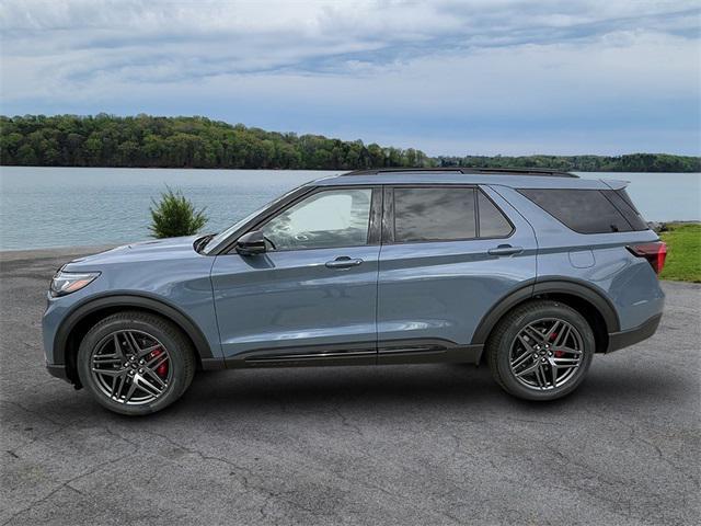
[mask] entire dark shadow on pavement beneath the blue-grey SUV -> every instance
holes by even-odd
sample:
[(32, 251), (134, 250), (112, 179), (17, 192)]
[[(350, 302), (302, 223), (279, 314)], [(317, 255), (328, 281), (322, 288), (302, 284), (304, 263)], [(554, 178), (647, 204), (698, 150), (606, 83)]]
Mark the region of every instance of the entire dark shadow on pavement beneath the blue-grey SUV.
[[(445, 416), (466, 410), (547, 415), (647, 407), (678, 400), (696, 389), (694, 385), (686, 385), (679, 378), (673, 379), (669, 374), (660, 375), (655, 369), (631, 370), (622, 364), (601, 365), (591, 368), (574, 393), (552, 402), (529, 402), (510, 397), (492, 380), (487, 367), (462, 364), (199, 371), (180, 401), (146, 419), (183, 421), (202, 419), (209, 413), (215, 413), (215, 418), (231, 419), (252, 418), (255, 413), (289, 416), (295, 412), (303, 414), (330, 407), (358, 415), (440, 411)], [(22, 412), (67, 421), (87, 418), (104, 422), (141, 420), (104, 410), (84, 390), (61, 392), (57, 398), (55, 388), (65, 386), (47, 380), (46, 387), (48, 389), (41, 389), (22, 400)], [(4, 403), (13, 403), (12, 397), (4, 398)]]

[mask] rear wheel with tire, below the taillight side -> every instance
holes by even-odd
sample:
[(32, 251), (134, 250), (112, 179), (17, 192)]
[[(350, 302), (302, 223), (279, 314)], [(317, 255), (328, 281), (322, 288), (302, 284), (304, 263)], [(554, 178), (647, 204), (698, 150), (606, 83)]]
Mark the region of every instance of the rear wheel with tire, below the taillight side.
[(537, 401), (556, 400), (574, 391), (584, 380), (595, 351), (594, 332), (586, 319), (572, 307), (551, 300), (515, 308), (497, 323), (486, 343), (496, 382), (509, 395)]

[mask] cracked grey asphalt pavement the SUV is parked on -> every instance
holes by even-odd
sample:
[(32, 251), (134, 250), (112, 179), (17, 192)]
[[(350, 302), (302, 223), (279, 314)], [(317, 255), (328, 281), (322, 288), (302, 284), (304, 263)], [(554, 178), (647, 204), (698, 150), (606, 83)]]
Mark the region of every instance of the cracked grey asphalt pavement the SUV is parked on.
[(699, 285), (553, 403), (486, 367), (250, 369), (129, 419), (44, 368), (68, 259), (0, 253), (0, 525), (699, 524)]

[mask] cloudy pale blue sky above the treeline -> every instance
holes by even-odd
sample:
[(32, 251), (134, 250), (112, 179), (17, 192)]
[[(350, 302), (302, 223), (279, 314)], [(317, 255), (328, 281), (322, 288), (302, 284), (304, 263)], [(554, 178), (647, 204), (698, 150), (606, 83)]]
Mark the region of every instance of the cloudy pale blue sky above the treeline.
[(0, 113), (204, 115), (429, 155), (701, 155), (701, 5), (3, 0)]

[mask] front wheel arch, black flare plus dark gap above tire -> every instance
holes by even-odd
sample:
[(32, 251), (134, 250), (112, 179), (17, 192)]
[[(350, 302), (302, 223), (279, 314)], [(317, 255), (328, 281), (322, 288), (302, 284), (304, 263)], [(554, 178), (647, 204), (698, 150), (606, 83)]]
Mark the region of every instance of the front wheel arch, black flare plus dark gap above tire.
[(97, 321), (124, 310), (137, 310), (157, 315), (175, 323), (192, 343), (199, 368), (202, 367), (203, 358), (212, 357), (211, 348), (202, 330), (179, 308), (160, 299), (140, 295), (103, 296), (74, 308), (65, 318), (54, 338), (55, 362), (66, 366), (66, 376), (77, 388), (81, 387), (76, 367), (80, 342)]

